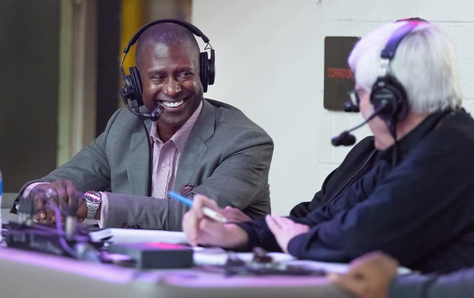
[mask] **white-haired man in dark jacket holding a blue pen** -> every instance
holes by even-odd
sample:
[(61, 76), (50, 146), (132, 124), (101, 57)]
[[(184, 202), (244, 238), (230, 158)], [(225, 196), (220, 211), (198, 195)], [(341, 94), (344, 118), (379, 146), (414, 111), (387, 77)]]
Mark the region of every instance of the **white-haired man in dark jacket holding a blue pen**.
[(474, 266), (474, 120), (460, 108), (452, 43), (402, 20), (362, 38), (348, 62), (379, 150), (372, 169), (304, 218), (217, 223), (201, 211), (215, 203), (196, 195), (183, 220), (192, 245), (340, 262), (380, 250), (422, 272)]

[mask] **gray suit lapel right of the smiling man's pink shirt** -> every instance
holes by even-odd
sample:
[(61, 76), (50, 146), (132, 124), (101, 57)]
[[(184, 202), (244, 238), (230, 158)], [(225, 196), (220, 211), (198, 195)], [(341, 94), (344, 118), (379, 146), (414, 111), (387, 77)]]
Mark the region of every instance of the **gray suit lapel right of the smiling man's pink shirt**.
[(207, 100), (203, 101), (203, 110), (194, 124), (189, 134), (186, 145), (179, 157), (178, 168), (174, 180), (174, 190), (186, 183), (197, 183), (193, 181), (193, 174), (196, 172), (201, 159), (208, 150), (206, 141), (214, 135), (215, 108)]

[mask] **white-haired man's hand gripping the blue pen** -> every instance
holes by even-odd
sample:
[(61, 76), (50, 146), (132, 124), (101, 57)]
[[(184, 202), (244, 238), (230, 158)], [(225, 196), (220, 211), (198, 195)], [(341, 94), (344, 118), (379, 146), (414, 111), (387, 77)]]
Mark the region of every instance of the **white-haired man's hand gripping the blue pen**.
[(193, 207), (183, 217), (182, 227), (186, 239), (192, 246), (218, 245), (226, 248), (235, 248), (247, 243), (247, 234), (232, 223), (220, 223), (205, 216), (202, 208), (206, 206), (217, 212), (214, 200), (204, 195), (196, 194), (193, 198)]

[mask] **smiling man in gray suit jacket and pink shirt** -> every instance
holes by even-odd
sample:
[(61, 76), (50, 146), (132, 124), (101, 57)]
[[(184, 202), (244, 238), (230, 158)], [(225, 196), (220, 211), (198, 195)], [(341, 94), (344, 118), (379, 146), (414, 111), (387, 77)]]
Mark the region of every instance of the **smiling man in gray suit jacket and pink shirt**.
[[(100, 227), (180, 230), (188, 208), (166, 193), (184, 184), (195, 185), (193, 193), (205, 194), (221, 208), (236, 207), (251, 218), (268, 214), (272, 140), (238, 109), (203, 98), (200, 51), (193, 34), (182, 24), (152, 25), (138, 38), (136, 63), (141, 110), (161, 105), (163, 115), (142, 123), (119, 109), (89, 146), (23, 186), (20, 195), (34, 199), (35, 221), (59, 220), (45, 202), (66, 209), (80, 189), (92, 190), (87, 200), (79, 200), (80, 221), (95, 218)], [(12, 212), (16, 205), (18, 200)], [(226, 211), (232, 209), (222, 213)]]

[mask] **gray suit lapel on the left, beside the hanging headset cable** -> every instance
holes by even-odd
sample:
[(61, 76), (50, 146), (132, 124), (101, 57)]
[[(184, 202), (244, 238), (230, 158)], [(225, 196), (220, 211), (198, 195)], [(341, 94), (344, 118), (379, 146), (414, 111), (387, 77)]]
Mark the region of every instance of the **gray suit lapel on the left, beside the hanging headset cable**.
[[(148, 137), (151, 128), (151, 121), (145, 121), (148, 130)], [(148, 143), (145, 138), (145, 131), (141, 123), (138, 124), (136, 131), (132, 134), (130, 140), (127, 176), (129, 178), (130, 193), (147, 195), (148, 193)]]

